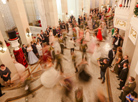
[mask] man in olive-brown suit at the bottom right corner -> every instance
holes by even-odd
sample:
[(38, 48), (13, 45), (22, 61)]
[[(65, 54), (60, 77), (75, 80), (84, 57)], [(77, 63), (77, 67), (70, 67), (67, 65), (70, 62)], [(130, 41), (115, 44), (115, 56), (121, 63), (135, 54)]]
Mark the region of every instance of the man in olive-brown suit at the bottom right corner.
[(121, 93), (121, 95), (119, 96), (119, 98), (121, 99), (121, 102), (126, 102), (126, 96), (135, 90), (136, 88), (136, 82), (135, 82), (135, 78), (133, 78), (132, 76), (130, 76), (128, 78), (129, 82), (122, 88), (123, 92)]

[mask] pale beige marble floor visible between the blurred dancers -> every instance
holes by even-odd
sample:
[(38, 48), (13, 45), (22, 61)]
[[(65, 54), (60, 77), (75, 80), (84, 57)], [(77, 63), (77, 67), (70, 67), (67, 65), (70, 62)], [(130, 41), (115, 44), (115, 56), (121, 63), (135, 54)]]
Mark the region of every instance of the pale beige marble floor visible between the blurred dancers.
[[(110, 35), (109, 35), (110, 36)], [(108, 51), (111, 49), (111, 38), (108, 37), (106, 41), (100, 42), (100, 47), (101, 47), (101, 57), (107, 57)], [(76, 47), (78, 49), (78, 47)], [(77, 55), (77, 61), (78, 63), (81, 62), (81, 57), (82, 53), (80, 51), (75, 51)], [(71, 55), (70, 55), (70, 50), (65, 49), (64, 50), (64, 56), (63, 56), (63, 70), (64, 74), (66, 76), (72, 76), (71, 79), (73, 81), (73, 92), (72, 92), (72, 97), (74, 100), (75, 96), (75, 90), (79, 87), (83, 88), (83, 97), (84, 97), (84, 102), (95, 102), (95, 95), (98, 91), (102, 91), (105, 97), (108, 98), (107, 95), (107, 85), (106, 83), (101, 84), (101, 80), (98, 79), (100, 76), (100, 68), (98, 67), (97, 63), (93, 61), (92, 56), (90, 53), (87, 54), (89, 56), (89, 67), (88, 67), (88, 72), (92, 76), (92, 80), (89, 83), (81, 83), (80, 81), (77, 80), (76, 74), (75, 74), (75, 68), (73, 66), (73, 62), (71, 60)], [(112, 93), (113, 93), (113, 100), (114, 102), (119, 102), (118, 99), (118, 94), (119, 91), (117, 91), (117, 80), (114, 74), (110, 73), (110, 81), (111, 81), (111, 88), (112, 88)], [(40, 85), (40, 79), (37, 80), (37, 82), (34, 82), (34, 84)], [(36, 86), (36, 85), (34, 85)], [(32, 98), (31, 95), (28, 96), (28, 101), (29, 102), (61, 102), (61, 98), (63, 96), (62, 93), (62, 86), (60, 84), (57, 84), (53, 88), (45, 88), (42, 86), (40, 89), (35, 91), (35, 97)], [(18, 91), (14, 90), (14, 93), (20, 92), (19, 89)], [(10, 95), (11, 92), (6, 91), (6, 94), (0, 98), (0, 102), (4, 102), (3, 100)], [(13, 96), (13, 95), (12, 95)], [(11, 96), (11, 97), (12, 97)], [(25, 97), (20, 98), (18, 100), (14, 100), (12, 102), (25, 102)], [(74, 101), (73, 101), (74, 102)]]

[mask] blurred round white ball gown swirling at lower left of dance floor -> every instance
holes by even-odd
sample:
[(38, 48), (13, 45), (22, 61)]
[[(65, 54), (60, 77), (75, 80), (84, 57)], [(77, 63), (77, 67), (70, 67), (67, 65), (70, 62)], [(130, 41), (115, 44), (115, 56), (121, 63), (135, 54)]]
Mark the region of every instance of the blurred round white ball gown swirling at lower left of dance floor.
[(53, 88), (60, 81), (60, 72), (51, 67), (41, 75), (40, 80), (46, 88)]

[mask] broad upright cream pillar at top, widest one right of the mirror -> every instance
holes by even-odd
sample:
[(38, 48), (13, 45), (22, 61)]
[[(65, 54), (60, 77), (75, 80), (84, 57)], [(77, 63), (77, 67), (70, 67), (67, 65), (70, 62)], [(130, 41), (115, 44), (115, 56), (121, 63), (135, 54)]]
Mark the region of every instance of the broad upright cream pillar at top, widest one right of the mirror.
[(58, 12), (56, 0), (44, 0), (44, 7), (46, 11), (47, 25), (53, 27), (58, 26)]

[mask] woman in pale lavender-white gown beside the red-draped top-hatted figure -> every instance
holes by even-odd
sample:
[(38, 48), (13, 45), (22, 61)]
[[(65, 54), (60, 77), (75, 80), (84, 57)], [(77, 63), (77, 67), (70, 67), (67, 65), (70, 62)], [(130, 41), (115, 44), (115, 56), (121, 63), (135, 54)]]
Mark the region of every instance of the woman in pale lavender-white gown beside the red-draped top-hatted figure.
[(34, 54), (31, 45), (27, 46), (27, 52), (28, 52), (28, 61), (29, 61), (29, 64), (35, 64), (36, 62), (38, 62), (38, 58)]

